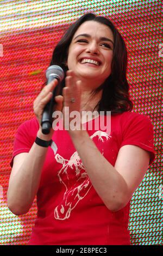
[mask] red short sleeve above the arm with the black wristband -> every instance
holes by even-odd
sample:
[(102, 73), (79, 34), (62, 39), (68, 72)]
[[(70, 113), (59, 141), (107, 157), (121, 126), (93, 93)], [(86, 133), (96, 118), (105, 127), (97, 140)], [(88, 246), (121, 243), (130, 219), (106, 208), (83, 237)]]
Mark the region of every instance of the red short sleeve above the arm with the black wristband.
[(36, 118), (25, 121), (21, 124), (16, 132), (14, 139), (14, 149), (12, 153), (12, 158), (10, 161), (10, 166), (13, 165), (14, 157), (20, 153), (28, 153), (32, 147), (37, 131), (39, 130), (39, 123)]

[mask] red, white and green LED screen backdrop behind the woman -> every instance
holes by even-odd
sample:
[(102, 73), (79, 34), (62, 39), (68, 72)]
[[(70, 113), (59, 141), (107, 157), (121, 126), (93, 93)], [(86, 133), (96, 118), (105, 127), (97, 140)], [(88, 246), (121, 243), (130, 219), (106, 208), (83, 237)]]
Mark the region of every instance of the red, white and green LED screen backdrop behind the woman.
[(34, 117), (33, 101), (45, 82), (54, 46), (65, 29), (87, 12), (109, 17), (123, 35), (134, 111), (148, 115), (154, 125), (156, 160), (131, 200), (129, 229), (133, 245), (161, 245), (161, 2), (0, 2), (1, 245), (26, 245), (36, 216), (36, 200), (22, 216), (15, 216), (7, 207), (15, 132), (21, 123)]

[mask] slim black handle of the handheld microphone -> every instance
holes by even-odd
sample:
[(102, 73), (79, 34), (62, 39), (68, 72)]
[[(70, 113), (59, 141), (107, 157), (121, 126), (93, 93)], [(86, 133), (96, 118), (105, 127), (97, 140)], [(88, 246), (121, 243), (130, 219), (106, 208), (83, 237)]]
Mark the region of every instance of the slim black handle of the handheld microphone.
[[(59, 83), (58, 77), (53, 75), (48, 77), (48, 84), (51, 83), (52, 80), (54, 80), (55, 78), (57, 78)], [(42, 120), (41, 120), (42, 133), (46, 135), (49, 134), (52, 128), (52, 114), (53, 114), (53, 106), (55, 104), (54, 97), (57, 95), (57, 87), (54, 88), (51, 100), (49, 100), (49, 102), (46, 104), (42, 113)]]

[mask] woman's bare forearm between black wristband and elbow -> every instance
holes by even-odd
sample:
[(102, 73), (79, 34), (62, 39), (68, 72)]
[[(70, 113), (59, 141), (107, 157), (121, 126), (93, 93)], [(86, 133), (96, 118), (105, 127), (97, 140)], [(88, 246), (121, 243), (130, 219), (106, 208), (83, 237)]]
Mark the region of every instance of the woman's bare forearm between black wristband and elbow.
[(47, 148), (34, 143), (20, 167), (10, 176), (8, 207), (14, 214), (25, 214), (30, 209), (39, 188), (46, 153)]

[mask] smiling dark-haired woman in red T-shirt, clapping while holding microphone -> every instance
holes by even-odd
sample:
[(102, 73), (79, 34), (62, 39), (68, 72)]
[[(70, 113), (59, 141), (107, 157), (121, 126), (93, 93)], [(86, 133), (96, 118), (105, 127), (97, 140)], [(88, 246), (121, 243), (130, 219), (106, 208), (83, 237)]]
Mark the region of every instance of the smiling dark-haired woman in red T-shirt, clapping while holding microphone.
[[(111, 111), (111, 131), (86, 131), (81, 123), (43, 135), (42, 111), (57, 86), (49, 83), (34, 101), (36, 118), (16, 134), (8, 207), (26, 214), (37, 194), (30, 245), (130, 245), (130, 199), (155, 155), (151, 121), (131, 112), (122, 36), (108, 19), (86, 14), (55, 47), (53, 64), (66, 75), (55, 110)], [(40, 139), (52, 139), (57, 153)]]

